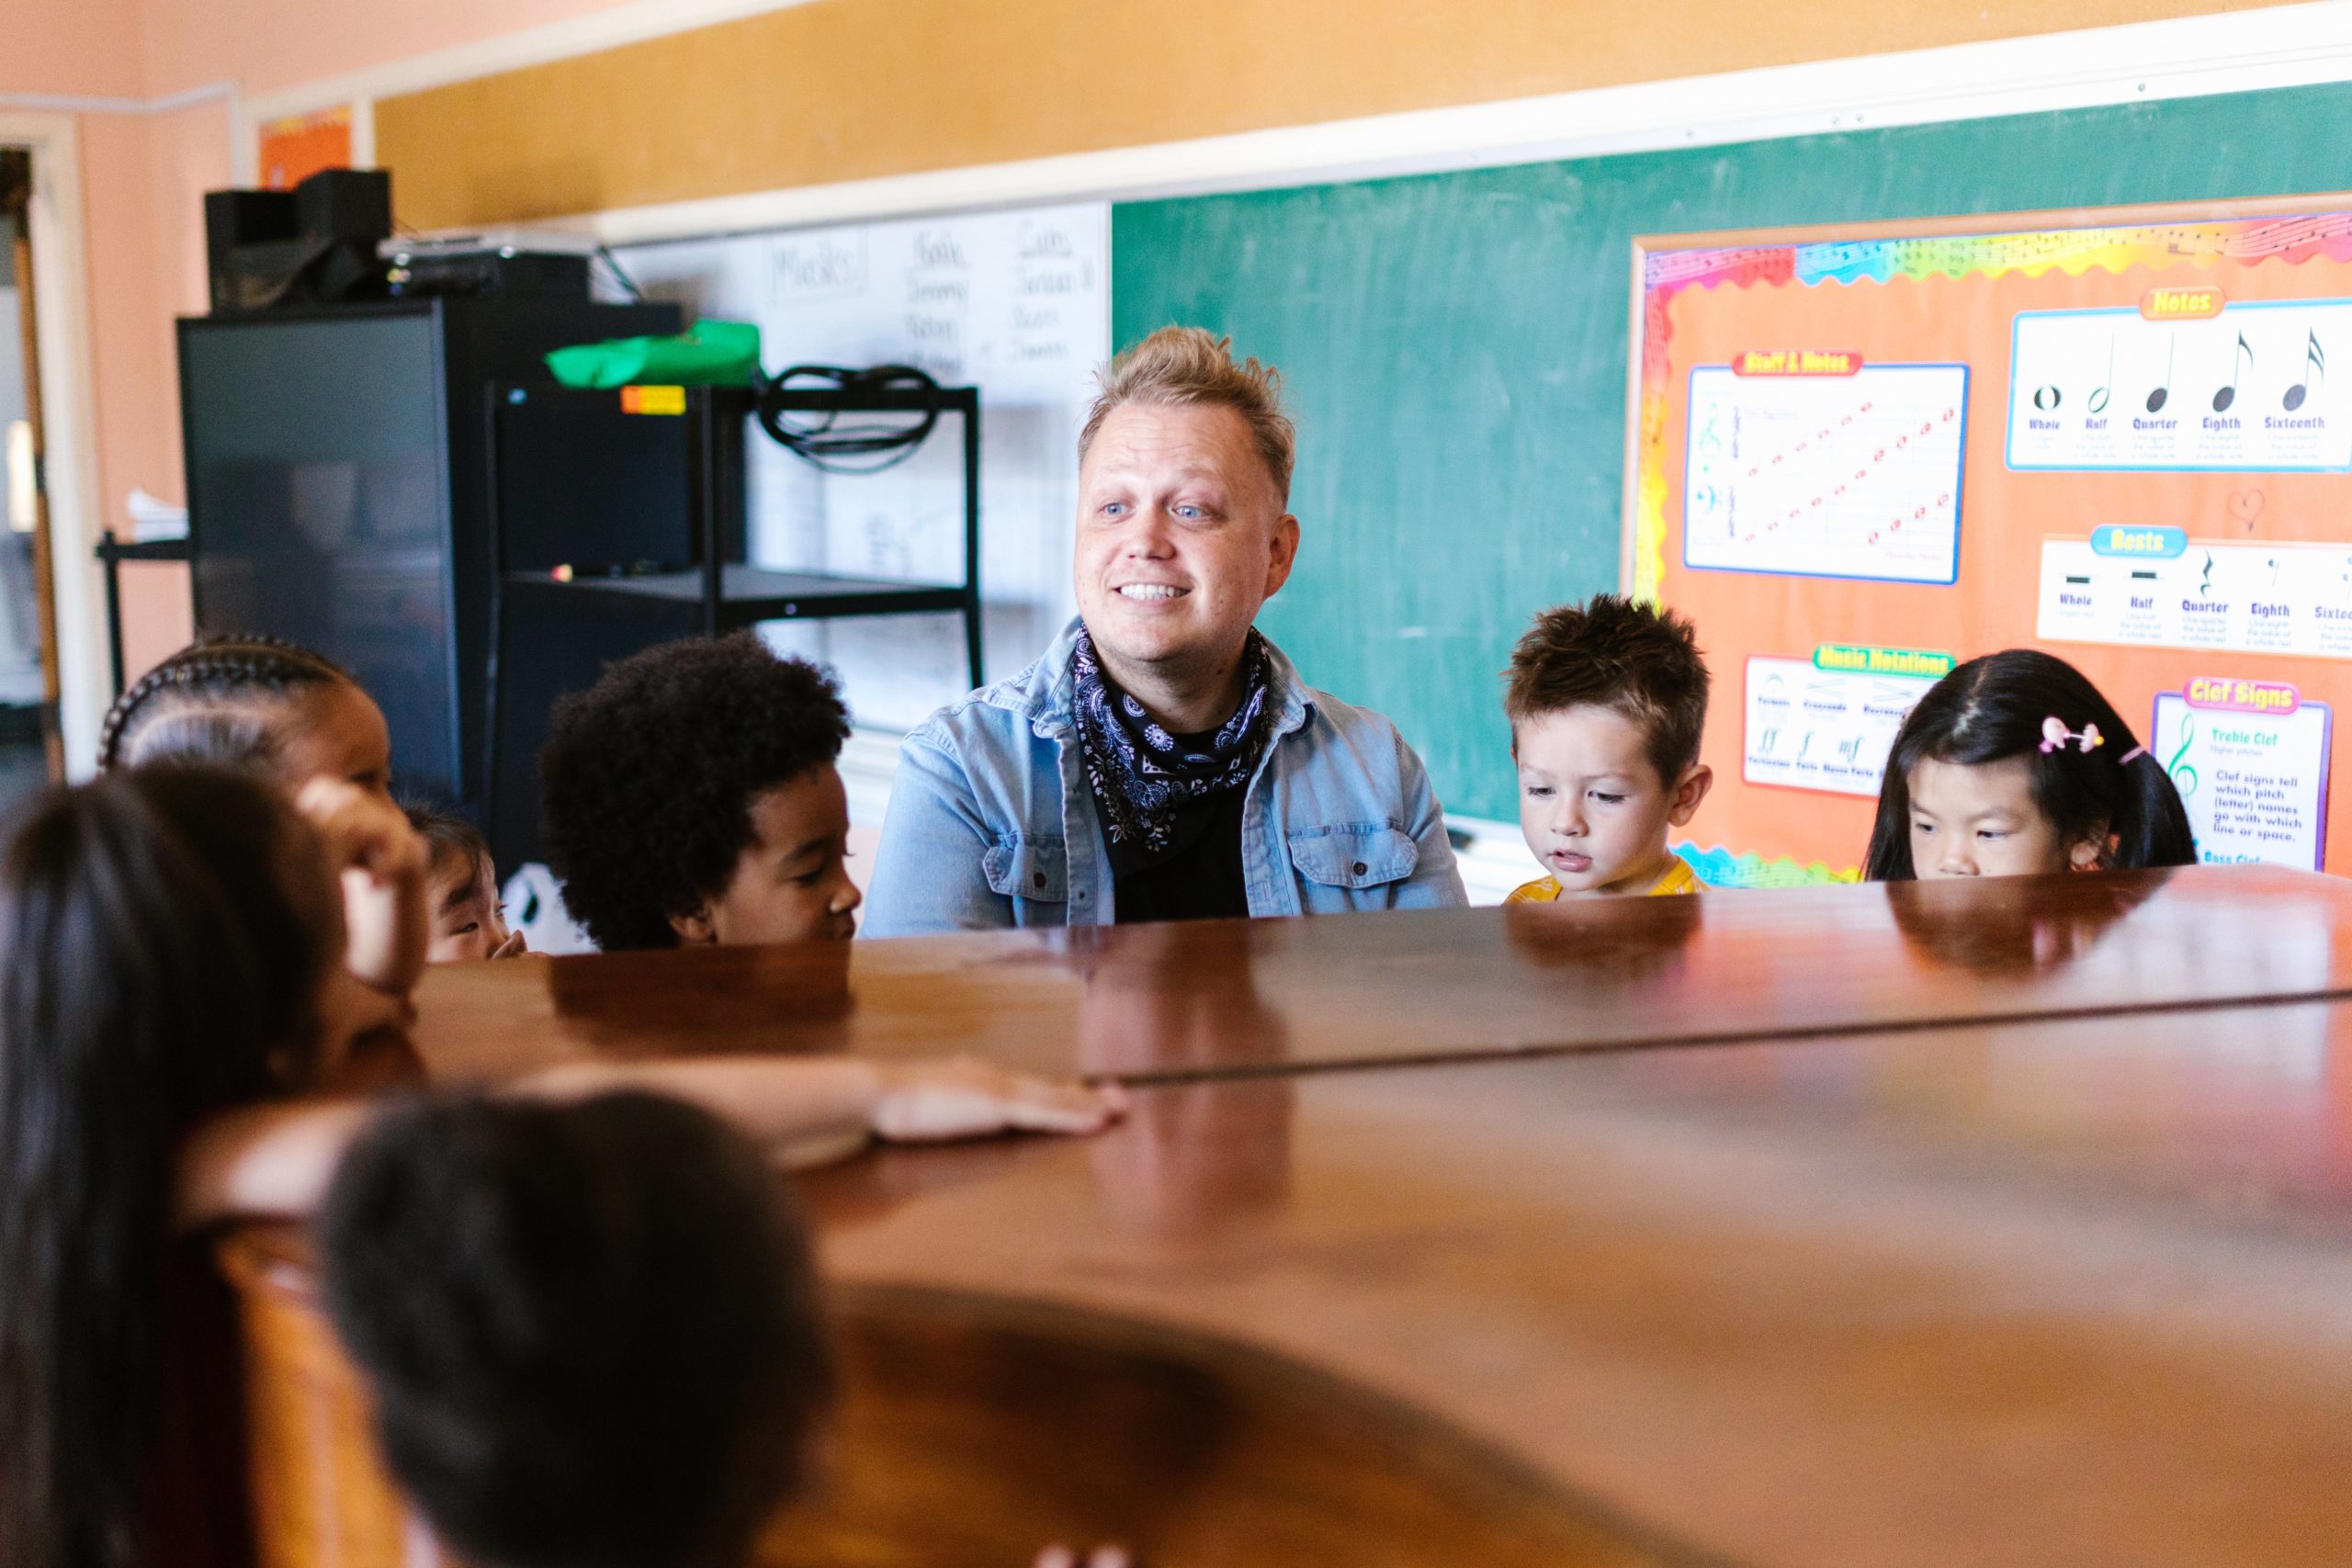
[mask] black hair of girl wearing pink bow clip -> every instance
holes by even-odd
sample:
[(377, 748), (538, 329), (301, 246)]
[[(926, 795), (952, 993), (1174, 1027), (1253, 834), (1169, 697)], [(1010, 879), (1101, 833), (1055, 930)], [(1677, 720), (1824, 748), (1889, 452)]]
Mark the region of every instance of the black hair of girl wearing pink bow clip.
[[(2044, 719), (2067, 731), (2098, 726), (2100, 745), (2042, 750)], [(1922, 762), (2023, 759), (2032, 771), (2034, 809), (2063, 844), (2105, 839), (2103, 867), (2192, 865), (2197, 842), (2180, 792), (2164, 764), (2140, 750), (2124, 715), (2082, 670), (2039, 649), (2002, 649), (1959, 665), (1929, 686), (1903, 719), (1886, 776), (1879, 820), (1870, 830), (1870, 882), (1910, 882), (1910, 776)]]

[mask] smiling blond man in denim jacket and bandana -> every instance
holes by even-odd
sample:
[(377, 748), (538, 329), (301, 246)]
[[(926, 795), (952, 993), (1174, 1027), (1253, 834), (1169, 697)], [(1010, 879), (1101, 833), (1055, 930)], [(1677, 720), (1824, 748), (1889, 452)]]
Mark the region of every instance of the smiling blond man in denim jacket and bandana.
[(1376, 712), (1254, 621), (1291, 576), (1279, 376), (1164, 327), (1077, 437), (1077, 621), (906, 738), (868, 936), (1458, 905), (1444, 813)]

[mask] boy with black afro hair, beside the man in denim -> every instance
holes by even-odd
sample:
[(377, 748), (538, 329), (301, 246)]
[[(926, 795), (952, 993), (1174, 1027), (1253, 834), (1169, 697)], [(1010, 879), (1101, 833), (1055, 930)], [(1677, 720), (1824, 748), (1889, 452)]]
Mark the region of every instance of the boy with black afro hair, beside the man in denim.
[(847, 940), (849, 712), (757, 632), (633, 654), (555, 703), (543, 837), (597, 947)]

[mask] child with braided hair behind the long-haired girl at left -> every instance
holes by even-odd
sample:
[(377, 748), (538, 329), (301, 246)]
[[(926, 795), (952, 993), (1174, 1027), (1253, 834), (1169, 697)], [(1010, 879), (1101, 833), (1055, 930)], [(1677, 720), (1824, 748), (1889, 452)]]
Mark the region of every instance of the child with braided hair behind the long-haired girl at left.
[(212, 762), (275, 785), (343, 879), (346, 969), (407, 1011), (423, 973), (426, 849), (393, 804), (383, 710), (325, 654), (278, 637), (198, 637), (106, 710), (99, 771)]

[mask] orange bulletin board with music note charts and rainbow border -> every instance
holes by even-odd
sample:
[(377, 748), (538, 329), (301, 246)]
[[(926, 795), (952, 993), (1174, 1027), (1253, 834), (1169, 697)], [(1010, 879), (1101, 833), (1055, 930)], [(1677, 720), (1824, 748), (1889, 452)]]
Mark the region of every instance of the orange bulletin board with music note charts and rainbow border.
[(2352, 867), (2352, 197), (1639, 240), (1635, 308), (1710, 879), (1849, 872), (1900, 715), (2002, 646), (2107, 693), (2204, 858)]

